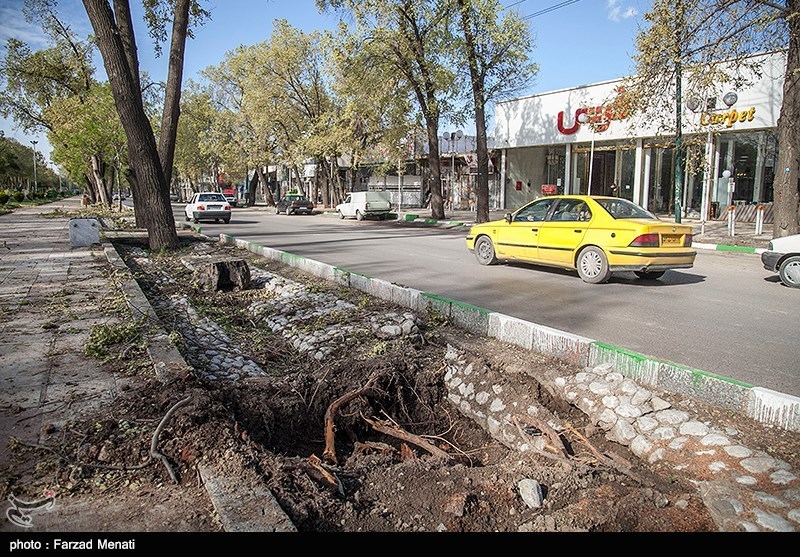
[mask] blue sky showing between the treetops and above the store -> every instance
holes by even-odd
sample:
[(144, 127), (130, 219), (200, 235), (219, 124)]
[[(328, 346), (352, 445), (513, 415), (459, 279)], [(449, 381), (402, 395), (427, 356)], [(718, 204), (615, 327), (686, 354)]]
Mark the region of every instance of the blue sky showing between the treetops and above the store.
[[(501, 0), (507, 9), (527, 18), (533, 34), (532, 59), (539, 73), (524, 94), (577, 87), (608, 81), (632, 73), (634, 39), (643, 23), (651, 0)], [(0, 0), (0, 55), (5, 55), (9, 38), (22, 40), (33, 50), (47, 48), (40, 29), (25, 21), (24, 0)], [(320, 14), (314, 0), (206, 0), (211, 19), (195, 32), (186, 47), (184, 83), (199, 78), (208, 66), (219, 64), (225, 54), (239, 45), (252, 45), (269, 39), (272, 22), (286, 19), (303, 31), (333, 29), (338, 18)], [(141, 2), (131, 0), (141, 69), (156, 80), (165, 80), (166, 57), (156, 58), (152, 42), (141, 22)], [(81, 38), (92, 29), (81, 0), (58, 0), (64, 21)], [(165, 50), (168, 45), (165, 45)], [(97, 55), (95, 66), (103, 72)], [(103, 74), (104, 75), (104, 72)], [(50, 145), (44, 134), (27, 135), (14, 123), (0, 116), (0, 129), (6, 137), (23, 144), (39, 143), (49, 160)], [(447, 131), (443, 129), (442, 131)], [(469, 133), (469, 130), (465, 130)]]

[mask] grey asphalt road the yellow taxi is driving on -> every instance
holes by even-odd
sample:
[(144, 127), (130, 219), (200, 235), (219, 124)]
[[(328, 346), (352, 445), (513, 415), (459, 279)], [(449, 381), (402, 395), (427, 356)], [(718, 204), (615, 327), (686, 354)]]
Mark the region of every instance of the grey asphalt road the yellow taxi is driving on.
[[(183, 205), (173, 208), (183, 220)], [(620, 273), (591, 285), (545, 267), (482, 267), (465, 247), (466, 228), (275, 215), (261, 207), (234, 209), (230, 224), (201, 227), (800, 396), (800, 290), (784, 287), (755, 254), (698, 250), (693, 268), (658, 281)]]

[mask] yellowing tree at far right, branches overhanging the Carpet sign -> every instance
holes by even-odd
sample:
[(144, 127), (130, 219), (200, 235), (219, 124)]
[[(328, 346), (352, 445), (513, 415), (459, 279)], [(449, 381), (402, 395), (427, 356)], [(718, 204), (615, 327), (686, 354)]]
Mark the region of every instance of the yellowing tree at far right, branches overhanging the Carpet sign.
[[(676, 17), (676, 14), (678, 17)], [(800, 220), (800, 0), (656, 0), (650, 22), (636, 39), (635, 76), (625, 83), (626, 107), (665, 129), (659, 114), (673, 114), (676, 160), (683, 154), (681, 99), (707, 98), (721, 85), (742, 87), (759, 75), (748, 56), (786, 49), (783, 104), (778, 119), (777, 168), (773, 184), (774, 235), (798, 232)], [(665, 53), (667, 56), (665, 56)], [(735, 68), (726, 61), (736, 60)], [(676, 166), (676, 208), (682, 188)], [(679, 217), (678, 217), (679, 218)]]

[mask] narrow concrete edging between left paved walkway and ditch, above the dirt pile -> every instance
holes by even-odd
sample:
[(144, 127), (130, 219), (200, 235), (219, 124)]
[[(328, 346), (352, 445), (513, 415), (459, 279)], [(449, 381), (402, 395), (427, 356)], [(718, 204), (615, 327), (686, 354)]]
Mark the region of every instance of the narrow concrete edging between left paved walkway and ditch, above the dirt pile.
[(149, 335), (147, 338), (147, 355), (150, 357), (150, 361), (153, 362), (156, 378), (162, 383), (171, 383), (186, 377), (191, 373), (191, 368), (164, 330), (161, 320), (156, 315), (153, 306), (150, 305), (147, 296), (139, 288), (139, 283), (131, 275), (125, 261), (122, 260), (122, 257), (110, 242), (103, 245), (103, 252), (108, 262), (120, 275), (125, 301), (128, 303), (128, 307), (131, 308), (134, 319), (142, 316), (150, 323), (157, 324), (155, 334)]

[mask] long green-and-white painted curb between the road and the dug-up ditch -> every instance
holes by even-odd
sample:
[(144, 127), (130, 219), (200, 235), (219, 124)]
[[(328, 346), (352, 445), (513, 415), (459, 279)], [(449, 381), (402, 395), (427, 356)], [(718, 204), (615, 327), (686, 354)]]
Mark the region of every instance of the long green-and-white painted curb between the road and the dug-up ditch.
[(613, 363), (617, 371), (642, 384), (691, 396), (764, 424), (800, 431), (798, 397), (754, 387), (545, 325), (371, 278), (227, 234), (220, 234), (219, 241), (414, 311), (439, 314), (450, 319), (456, 326), (475, 334), (496, 338), (527, 350), (536, 350), (576, 365), (594, 367), (606, 362)]

